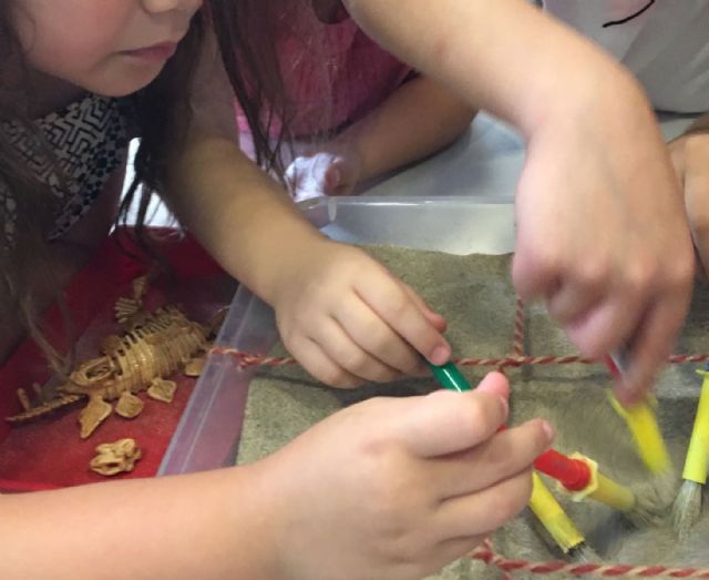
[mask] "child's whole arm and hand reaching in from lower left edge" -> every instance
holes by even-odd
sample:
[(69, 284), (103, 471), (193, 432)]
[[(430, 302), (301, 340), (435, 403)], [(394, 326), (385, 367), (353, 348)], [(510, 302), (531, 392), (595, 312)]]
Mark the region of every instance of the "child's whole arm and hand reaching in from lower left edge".
[(541, 420), (497, 434), (506, 398), (492, 374), (354, 405), (248, 466), (2, 495), (0, 578), (422, 578), (530, 497), (552, 436)]

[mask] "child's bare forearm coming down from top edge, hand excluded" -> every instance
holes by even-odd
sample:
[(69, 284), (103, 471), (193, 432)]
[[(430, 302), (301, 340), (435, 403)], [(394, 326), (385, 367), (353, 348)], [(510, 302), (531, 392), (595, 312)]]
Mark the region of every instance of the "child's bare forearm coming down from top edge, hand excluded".
[(527, 136), (549, 116), (563, 118), (569, 106), (576, 110), (604, 95), (616, 100), (623, 90), (639, 92), (629, 73), (526, 0), (346, 4), (393, 54)]

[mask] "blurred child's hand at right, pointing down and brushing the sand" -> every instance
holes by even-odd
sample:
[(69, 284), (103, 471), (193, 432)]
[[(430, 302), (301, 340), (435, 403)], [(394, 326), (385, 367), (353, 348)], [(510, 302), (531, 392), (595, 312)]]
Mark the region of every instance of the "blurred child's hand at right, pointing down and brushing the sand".
[(693, 260), (678, 180), (648, 104), (639, 91), (602, 93), (580, 111), (563, 106), (532, 133), (513, 274), (521, 294), (546, 299), (584, 355), (628, 344), (617, 395), (630, 403), (672, 349)]

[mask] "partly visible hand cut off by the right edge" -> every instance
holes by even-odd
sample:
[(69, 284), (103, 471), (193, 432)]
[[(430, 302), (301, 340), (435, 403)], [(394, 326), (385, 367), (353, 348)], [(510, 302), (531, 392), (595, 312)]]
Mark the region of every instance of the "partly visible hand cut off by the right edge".
[(709, 275), (709, 131), (690, 133), (669, 144), (685, 194), (685, 211), (699, 258), (699, 274)]

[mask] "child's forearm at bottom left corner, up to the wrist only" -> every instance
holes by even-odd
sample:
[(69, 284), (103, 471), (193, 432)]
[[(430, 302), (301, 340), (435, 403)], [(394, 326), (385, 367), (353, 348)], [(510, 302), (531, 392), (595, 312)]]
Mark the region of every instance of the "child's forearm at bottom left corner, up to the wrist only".
[(0, 496), (0, 578), (274, 578), (249, 469)]

